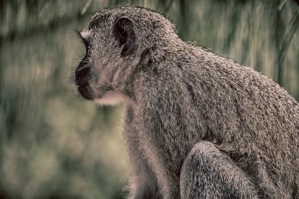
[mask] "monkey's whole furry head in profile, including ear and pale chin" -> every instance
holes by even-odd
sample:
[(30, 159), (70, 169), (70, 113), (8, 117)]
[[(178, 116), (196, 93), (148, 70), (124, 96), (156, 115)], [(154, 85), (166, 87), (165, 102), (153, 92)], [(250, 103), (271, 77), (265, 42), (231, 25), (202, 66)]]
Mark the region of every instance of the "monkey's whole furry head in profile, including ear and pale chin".
[(86, 54), (76, 69), (75, 82), (85, 99), (101, 103), (132, 100), (139, 69), (150, 67), (159, 59), (157, 51), (178, 39), (174, 24), (165, 16), (140, 7), (97, 12), (79, 34)]

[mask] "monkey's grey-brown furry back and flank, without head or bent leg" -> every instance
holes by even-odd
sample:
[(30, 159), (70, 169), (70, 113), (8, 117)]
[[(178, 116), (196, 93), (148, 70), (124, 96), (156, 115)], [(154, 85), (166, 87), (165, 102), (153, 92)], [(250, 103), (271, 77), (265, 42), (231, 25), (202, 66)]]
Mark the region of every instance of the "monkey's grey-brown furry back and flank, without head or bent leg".
[(265, 197), (298, 198), (298, 102), (252, 68), (199, 47), (181, 49), (188, 50), (169, 52), (134, 83), (136, 128), (150, 136), (145, 142), (157, 149), (167, 180), (177, 186), (184, 157), (206, 140), (227, 153)]

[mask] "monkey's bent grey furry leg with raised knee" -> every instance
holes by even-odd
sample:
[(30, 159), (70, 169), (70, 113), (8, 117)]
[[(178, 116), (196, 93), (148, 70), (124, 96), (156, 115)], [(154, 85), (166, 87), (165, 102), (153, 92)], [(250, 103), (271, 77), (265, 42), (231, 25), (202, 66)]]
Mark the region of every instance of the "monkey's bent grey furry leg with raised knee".
[(193, 146), (180, 171), (181, 199), (258, 199), (247, 175), (210, 142)]

